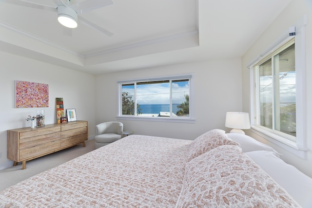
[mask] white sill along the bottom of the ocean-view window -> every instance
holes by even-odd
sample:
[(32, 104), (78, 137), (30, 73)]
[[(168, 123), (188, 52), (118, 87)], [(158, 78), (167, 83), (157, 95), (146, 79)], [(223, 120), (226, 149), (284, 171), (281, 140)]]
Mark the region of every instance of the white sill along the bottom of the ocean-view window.
[(144, 116), (116, 116), (117, 120), (135, 121), (156, 121), (156, 122), (175, 122), (175, 123), (195, 123), (194, 118), (166, 118), (166, 117), (144, 117)]

